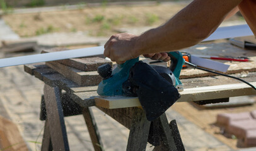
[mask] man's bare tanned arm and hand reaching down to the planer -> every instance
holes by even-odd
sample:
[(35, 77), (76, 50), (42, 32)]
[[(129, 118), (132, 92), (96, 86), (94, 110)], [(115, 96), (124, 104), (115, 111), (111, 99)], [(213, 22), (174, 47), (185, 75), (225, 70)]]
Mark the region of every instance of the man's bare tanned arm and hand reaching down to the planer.
[(164, 25), (140, 36), (121, 33), (105, 44), (104, 55), (119, 63), (142, 54), (180, 50), (211, 35), (241, 0), (194, 0)]

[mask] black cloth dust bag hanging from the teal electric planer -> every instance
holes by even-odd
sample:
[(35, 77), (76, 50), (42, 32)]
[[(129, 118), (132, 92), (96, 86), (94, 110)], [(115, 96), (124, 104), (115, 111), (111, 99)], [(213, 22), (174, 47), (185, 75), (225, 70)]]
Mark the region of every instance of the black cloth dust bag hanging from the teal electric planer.
[(128, 81), (137, 87), (136, 94), (149, 121), (165, 113), (180, 98), (176, 87), (141, 61), (132, 66)]

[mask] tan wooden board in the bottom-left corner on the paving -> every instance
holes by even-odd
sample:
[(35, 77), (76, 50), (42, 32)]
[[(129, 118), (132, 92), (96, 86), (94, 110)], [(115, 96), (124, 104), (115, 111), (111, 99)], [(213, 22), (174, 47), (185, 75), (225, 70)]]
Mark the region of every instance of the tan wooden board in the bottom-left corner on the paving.
[(3, 116), (0, 116), (0, 149), (28, 150), (18, 127), (12, 121), (3, 118)]

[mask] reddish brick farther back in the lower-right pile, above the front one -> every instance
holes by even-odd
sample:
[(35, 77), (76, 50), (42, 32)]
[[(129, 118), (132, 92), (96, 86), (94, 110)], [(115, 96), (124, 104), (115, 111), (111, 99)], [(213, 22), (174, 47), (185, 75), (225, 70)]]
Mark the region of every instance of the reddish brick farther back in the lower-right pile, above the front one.
[(216, 124), (219, 126), (224, 126), (227, 128), (231, 121), (241, 121), (241, 120), (250, 120), (252, 116), (248, 112), (242, 113), (221, 113), (217, 116)]

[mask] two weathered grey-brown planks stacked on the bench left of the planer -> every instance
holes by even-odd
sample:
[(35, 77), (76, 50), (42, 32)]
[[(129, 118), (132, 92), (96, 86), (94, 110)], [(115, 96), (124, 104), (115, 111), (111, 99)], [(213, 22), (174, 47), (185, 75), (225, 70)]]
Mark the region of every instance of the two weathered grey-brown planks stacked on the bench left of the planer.
[[(42, 53), (50, 53), (67, 50), (66, 48), (53, 48), (43, 50)], [(96, 71), (98, 66), (112, 62), (100, 57), (85, 57), (76, 59), (57, 60), (46, 62), (47, 66), (59, 72), (62, 76), (76, 82), (79, 86), (96, 86), (102, 81), (102, 77)]]

